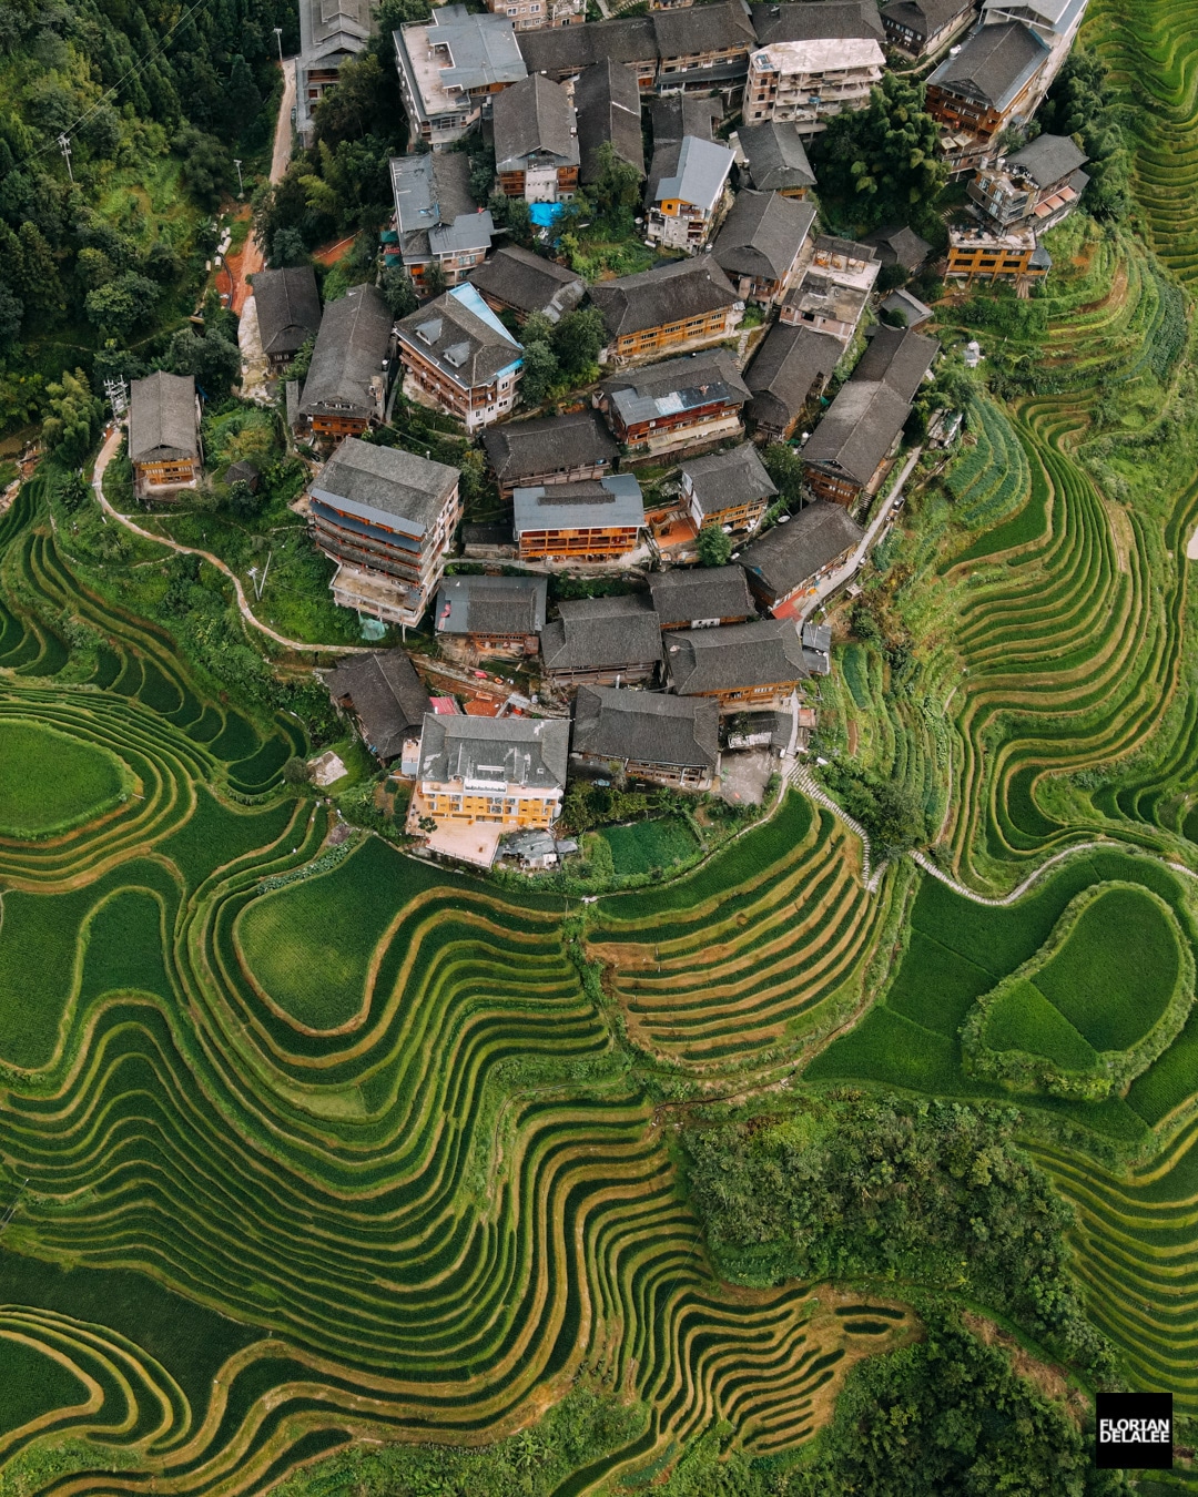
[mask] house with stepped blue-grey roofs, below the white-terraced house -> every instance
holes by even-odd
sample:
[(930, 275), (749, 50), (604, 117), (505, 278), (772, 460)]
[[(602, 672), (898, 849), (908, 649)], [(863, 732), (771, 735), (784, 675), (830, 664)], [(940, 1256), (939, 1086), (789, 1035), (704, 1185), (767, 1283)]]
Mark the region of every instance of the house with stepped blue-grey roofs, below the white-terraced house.
[(418, 296), (431, 290), (433, 265), (446, 286), (457, 286), (485, 260), (496, 226), (470, 196), (470, 159), (463, 151), (394, 156), (391, 192), (395, 246), (383, 246), (383, 260), (403, 265)]

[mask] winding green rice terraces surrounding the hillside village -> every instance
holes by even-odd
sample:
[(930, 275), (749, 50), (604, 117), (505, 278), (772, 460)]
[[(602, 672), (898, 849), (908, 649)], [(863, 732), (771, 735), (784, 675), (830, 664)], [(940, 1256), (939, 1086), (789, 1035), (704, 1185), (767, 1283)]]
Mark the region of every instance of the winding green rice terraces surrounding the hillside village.
[[(918, 858), (797, 784), (587, 903), (331, 838), (300, 720), (111, 596), (49, 473), (0, 516), (0, 1497), (374, 1491), (350, 1449), (517, 1460), (584, 1398), (512, 1491), (764, 1491), (671, 1472), (786, 1472), (945, 1280), (738, 1278), (686, 1139), (864, 1097), (1017, 1108), (1120, 1376), (1198, 1422), (1198, 30), (1083, 39), (1137, 217), (1053, 231), (1000, 337), (939, 308), (993, 377), (822, 687), (831, 793), (900, 787)], [(434, 1479), (388, 1490), (488, 1491)]]

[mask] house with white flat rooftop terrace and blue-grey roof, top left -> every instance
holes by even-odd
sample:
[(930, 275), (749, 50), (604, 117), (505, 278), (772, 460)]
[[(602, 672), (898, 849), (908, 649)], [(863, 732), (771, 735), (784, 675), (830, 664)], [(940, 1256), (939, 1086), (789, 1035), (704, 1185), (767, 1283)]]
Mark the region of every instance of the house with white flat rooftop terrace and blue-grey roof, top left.
[(412, 133), (428, 145), (457, 141), (490, 118), (494, 96), (529, 73), (508, 16), (464, 4), (436, 6), (428, 21), (409, 21), (392, 40)]

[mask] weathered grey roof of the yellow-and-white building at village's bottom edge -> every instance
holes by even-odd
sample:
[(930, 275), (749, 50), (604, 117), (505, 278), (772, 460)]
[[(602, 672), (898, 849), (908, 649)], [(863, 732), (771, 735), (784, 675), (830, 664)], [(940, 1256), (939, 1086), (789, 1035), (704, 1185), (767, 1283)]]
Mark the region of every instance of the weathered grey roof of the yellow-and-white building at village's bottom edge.
[(470, 780), (557, 790), (566, 783), (571, 725), (554, 717), (467, 717), (425, 713), (422, 780)]

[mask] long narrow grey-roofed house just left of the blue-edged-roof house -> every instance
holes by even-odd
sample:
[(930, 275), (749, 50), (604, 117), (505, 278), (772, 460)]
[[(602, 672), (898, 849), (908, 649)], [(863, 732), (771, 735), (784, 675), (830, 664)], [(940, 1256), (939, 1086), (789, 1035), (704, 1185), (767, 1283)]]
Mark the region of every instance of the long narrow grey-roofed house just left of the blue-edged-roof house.
[(391, 362), (391, 313), (376, 286), (350, 286), (325, 305), (298, 413), (322, 442), (382, 422)]

